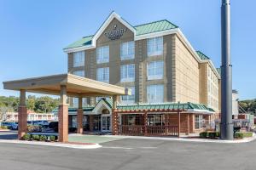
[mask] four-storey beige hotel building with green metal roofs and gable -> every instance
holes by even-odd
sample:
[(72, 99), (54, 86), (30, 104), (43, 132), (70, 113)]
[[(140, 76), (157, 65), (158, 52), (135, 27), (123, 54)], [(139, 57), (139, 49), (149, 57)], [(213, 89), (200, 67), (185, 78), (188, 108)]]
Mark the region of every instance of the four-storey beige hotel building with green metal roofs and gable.
[(213, 128), (218, 119), (219, 69), (168, 20), (131, 26), (113, 12), (96, 34), (64, 52), (68, 73), (131, 88), (115, 110), (111, 97), (84, 98), (83, 117), (78, 99), (70, 99), (69, 126), (82, 121), (85, 132), (179, 135)]

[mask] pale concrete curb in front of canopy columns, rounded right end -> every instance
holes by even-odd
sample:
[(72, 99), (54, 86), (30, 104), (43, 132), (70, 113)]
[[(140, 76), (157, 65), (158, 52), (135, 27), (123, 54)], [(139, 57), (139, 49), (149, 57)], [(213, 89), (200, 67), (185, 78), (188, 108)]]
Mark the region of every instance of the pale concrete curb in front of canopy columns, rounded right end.
[(33, 141), (22, 141), (22, 140), (8, 140), (0, 139), (0, 143), (5, 144), (33, 144), (33, 145), (44, 145), (44, 146), (55, 146), (55, 147), (64, 147), (64, 148), (73, 148), (73, 149), (97, 149), (101, 148), (100, 144), (63, 144), (63, 143), (47, 143), (47, 142), (33, 142)]

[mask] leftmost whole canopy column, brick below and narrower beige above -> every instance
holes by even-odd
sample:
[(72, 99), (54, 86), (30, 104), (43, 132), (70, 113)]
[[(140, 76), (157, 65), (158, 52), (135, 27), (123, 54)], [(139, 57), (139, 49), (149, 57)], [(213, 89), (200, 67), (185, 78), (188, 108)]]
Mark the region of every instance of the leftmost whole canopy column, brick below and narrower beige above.
[(18, 139), (21, 139), (23, 135), (27, 132), (26, 90), (20, 90), (18, 122), (19, 122)]

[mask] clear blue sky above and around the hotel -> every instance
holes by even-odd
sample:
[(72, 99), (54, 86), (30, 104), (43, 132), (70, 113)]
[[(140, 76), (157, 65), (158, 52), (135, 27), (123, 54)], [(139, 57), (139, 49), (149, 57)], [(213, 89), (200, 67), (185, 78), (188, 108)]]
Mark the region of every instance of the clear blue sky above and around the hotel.
[[(3, 90), (3, 81), (67, 72), (62, 48), (94, 34), (113, 10), (134, 26), (172, 21), (219, 67), (220, 5), (221, 0), (0, 0), (0, 95), (18, 95)], [(231, 0), (233, 88), (240, 99), (256, 98), (255, 7), (255, 0)]]

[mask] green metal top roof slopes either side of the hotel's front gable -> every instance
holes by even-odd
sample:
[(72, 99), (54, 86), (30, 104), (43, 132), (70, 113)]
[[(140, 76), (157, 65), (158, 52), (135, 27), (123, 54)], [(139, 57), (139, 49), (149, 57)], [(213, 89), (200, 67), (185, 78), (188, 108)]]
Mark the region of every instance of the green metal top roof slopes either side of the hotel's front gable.
[[(171, 30), (171, 29), (177, 28), (178, 26), (175, 26), (168, 20), (158, 20), (158, 21), (150, 22), (148, 24), (143, 24), (143, 25), (133, 26), (133, 27), (136, 30), (136, 35), (141, 36), (143, 34), (149, 34), (152, 32)], [(64, 49), (79, 48), (82, 46), (90, 45), (93, 36), (94, 35), (83, 37), (82, 39), (79, 39), (78, 41), (71, 43)]]

